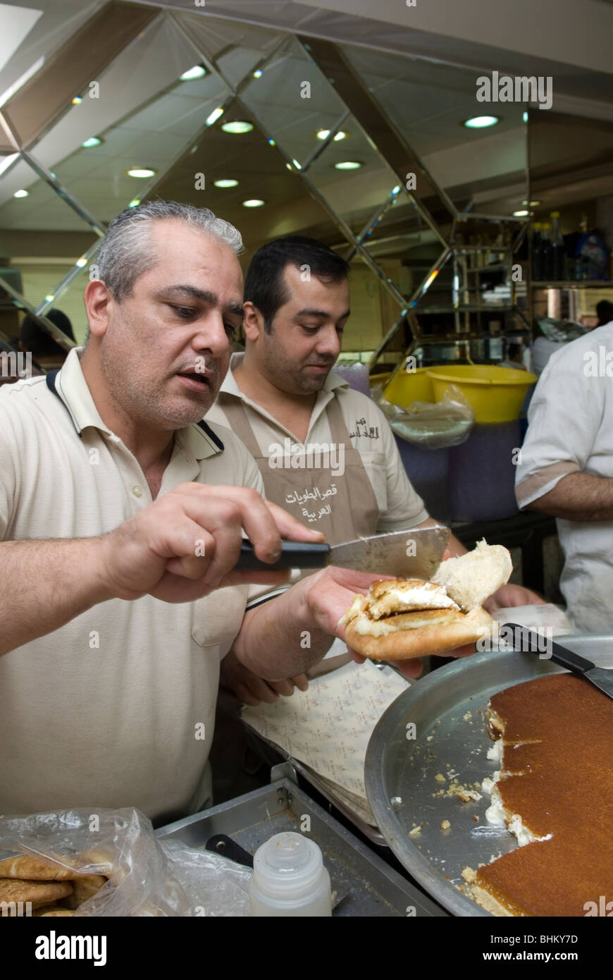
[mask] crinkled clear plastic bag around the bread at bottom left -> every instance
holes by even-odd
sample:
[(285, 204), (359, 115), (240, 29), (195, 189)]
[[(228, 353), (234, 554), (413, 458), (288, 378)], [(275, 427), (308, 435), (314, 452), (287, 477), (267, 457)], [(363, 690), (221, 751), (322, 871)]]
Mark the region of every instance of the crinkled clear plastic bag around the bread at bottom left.
[(20, 854), (109, 878), (74, 916), (248, 914), (248, 869), (180, 842), (159, 841), (137, 809), (0, 817), (0, 860)]

